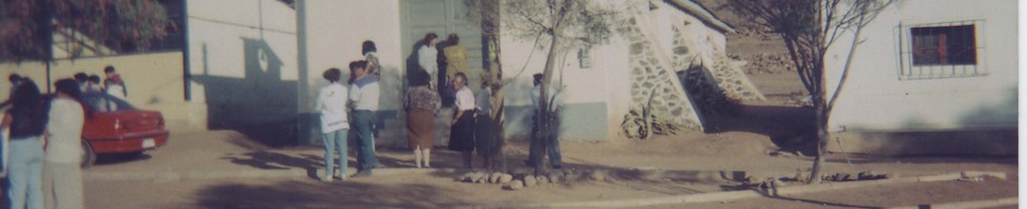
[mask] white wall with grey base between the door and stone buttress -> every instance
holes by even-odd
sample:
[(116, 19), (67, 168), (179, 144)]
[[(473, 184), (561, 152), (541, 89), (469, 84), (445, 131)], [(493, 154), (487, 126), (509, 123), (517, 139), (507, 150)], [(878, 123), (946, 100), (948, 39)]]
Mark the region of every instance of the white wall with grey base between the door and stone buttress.
[[(623, 1), (597, 1), (609, 7), (621, 7)], [(526, 40), (514, 36), (501, 36), (504, 78), (512, 79), (504, 87), (506, 104), (508, 107), (529, 108), (531, 100), (529, 93), (532, 87), (532, 75), (542, 73), (545, 66), (548, 42), (540, 41), (546, 47), (540, 49), (534, 46), (534, 39)], [(629, 108), (630, 76), (628, 60), (628, 42), (624, 37), (615, 35), (606, 45), (593, 46), (590, 49), (591, 66), (580, 67), (578, 50), (563, 49), (557, 58), (554, 69), (554, 85), (562, 85), (562, 138), (583, 140), (605, 140), (618, 137), (621, 122)], [(522, 72), (523, 70), (523, 72)], [(512, 110), (512, 109), (511, 109)], [(589, 111), (592, 115), (583, 115), (578, 111)], [(603, 111), (599, 120), (606, 123), (594, 123), (591, 118)], [(512, 112), (512, 111), (511, 111)], [(523, 112), (521, 112), (524, 114)], [(527, 133), (529, 131), (528, 118), (517, 112), (507, 115), (508, 134)], [(577, 132), (576, 130), (594, 130), (599, 133)]]

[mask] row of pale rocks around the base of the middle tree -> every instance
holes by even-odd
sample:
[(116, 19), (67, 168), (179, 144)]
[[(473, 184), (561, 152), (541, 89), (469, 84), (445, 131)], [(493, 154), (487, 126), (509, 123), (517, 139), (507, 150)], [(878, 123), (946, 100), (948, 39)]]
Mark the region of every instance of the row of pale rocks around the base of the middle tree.
[(575, 170), (552, 171), (545, 175), (515, 174), (504, 172), (469, 172), (457, 179), (459, 182), (475, 184), (498, 184), (504, 189), (519, 190), (530, 187), (539, 187), (546, 184), (560, 184), (578, 181), (606, 181), (605, 171), (595, 170), (579, 172)]

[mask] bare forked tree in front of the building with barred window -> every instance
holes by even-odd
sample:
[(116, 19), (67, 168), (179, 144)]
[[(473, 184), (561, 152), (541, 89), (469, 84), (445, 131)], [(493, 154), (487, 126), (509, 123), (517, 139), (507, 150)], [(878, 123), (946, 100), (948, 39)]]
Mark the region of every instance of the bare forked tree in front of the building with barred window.
[[(845, 87), (862, 29), (882, 10), (897, 0), (730, 0), (728, 8), (743, 17), (781, 36), (795, 72), (813, 100), (816, 114), (817, 151), (806, 183), (819, 183), (819, 172), (827, 155), (827, 122), (831, 108)], [(827, 97), (825, 57), (827, 50), (846, 33), (854, 33), (849, 56), (834, 95)], [(829, 100), (828, 100), (829, 99)]]

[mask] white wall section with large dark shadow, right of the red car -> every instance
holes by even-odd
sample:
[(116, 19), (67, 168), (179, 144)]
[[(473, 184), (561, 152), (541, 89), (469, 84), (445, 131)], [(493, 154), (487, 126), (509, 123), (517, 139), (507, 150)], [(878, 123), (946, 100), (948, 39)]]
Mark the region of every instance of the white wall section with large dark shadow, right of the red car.
[(296, 12), (275, 0), (186, 4), (188, 94), (205, 108), (206, 127), (290, 127), (298, 112)]

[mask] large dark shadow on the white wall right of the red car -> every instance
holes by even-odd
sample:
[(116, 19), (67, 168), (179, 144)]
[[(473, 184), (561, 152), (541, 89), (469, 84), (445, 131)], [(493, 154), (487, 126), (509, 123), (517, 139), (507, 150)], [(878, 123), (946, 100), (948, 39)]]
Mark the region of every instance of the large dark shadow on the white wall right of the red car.
[[(264, 40), (243, 38), (244, 77), (193, 75), (204, 86), (210, 130), (234, 130), (268, 146), (296, 143), (297, 82), (282, 79), (282, 60)], [(203, 62), (208, 54), (203, 53)], [(209, 66), (208, 63), (203, 64)]]

